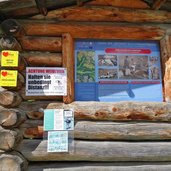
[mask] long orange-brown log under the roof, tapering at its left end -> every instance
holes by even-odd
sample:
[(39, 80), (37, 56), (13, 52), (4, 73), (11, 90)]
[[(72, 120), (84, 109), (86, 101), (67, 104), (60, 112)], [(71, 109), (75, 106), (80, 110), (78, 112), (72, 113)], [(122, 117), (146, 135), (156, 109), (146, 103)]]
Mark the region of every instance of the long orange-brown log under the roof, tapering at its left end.
[(46, 16), (36, 15), (32, 17), (32, 19), (38, 20), (44, 18), (58, 21), (171, 23), (171, 13), (167, 11), (132, 10), (114, 7), (69, 7), (50, 11)]

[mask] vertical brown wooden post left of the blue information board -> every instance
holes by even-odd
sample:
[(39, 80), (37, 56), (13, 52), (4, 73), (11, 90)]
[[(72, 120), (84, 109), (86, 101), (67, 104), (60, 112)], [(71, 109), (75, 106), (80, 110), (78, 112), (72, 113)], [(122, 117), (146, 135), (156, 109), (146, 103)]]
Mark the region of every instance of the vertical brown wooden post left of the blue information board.
[(64, 103), (74, 101), (74, 42), (70, 34), (62, 35), (63, 67), (67, 68), (67, 95), (63, 97)]

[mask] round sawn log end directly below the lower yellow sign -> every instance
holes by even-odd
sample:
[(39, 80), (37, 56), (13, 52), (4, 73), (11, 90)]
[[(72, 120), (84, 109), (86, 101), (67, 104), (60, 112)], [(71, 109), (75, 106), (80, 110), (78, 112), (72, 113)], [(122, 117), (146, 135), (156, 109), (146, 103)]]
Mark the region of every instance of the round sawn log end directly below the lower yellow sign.
[(22, 99), (17, 92), (2, 91), (0, 92), (0, 105), (6, 107), (19, 106)]

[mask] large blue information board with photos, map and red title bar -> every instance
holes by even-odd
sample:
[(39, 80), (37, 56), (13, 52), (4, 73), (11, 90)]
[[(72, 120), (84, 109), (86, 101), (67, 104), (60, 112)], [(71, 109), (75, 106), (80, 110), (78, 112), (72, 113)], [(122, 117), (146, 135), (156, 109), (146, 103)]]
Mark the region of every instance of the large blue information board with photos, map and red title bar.
[(76, 40), (75, 99), (163, 101), (159, 43)]

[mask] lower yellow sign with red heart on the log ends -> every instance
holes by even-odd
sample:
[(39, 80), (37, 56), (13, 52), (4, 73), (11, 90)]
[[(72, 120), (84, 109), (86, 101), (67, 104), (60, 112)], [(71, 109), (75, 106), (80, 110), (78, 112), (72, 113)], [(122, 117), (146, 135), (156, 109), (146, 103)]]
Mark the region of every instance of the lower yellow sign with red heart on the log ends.
[(18, 71), (1, 70), (0, 72), (0, 86), (2, 87), (16, 87), (17, 86)]

